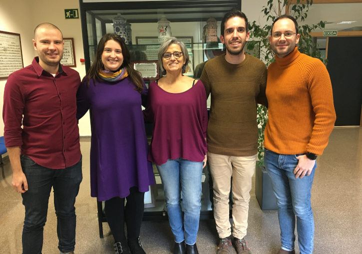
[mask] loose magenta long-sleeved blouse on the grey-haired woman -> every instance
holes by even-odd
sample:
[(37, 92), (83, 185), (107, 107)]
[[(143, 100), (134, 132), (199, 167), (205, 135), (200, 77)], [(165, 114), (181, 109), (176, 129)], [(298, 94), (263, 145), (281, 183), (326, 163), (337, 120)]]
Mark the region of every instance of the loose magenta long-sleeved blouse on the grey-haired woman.
[(144, 116), (154, 124), (148, 160), (157, 165), (180, 157), (203, 161), (208, 117), (206, 92), (200, 80), (180, 93), (167, 92), (155, 81), (150, 83)]

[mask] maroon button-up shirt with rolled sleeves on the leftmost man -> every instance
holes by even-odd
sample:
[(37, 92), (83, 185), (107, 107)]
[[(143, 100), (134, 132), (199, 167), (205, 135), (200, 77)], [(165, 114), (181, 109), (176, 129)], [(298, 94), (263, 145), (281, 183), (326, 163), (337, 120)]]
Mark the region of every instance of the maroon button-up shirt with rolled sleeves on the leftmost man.
[(79, 73), (59, 64), (54, 77), (38, 61), (35, 57), (6, 81), (2, 110), (5, 146), (20, 146), (21, 154), (44, 167), (72, 166), (80, 159)]

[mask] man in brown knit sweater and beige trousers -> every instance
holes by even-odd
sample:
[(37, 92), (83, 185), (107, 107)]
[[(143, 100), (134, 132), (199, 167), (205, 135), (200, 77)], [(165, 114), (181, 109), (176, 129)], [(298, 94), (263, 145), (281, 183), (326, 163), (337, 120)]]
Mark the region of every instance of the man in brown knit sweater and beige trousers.
[(201, 74), (211, 94), (207, 129), (208, 159), (214, 188), (214, 217), (220, 237), (217, 253), (233, 253), (229, 221), (232, 178), (233, 236), (238, 253), (251, 253), (244, 236), (248, 227), (251, 179), (257, 157), (257, 103), (267, 104), (267, 68), (244, 53), (249, 40), (248, 19), (239, 10), (225, 14), (221, 42), (226, 54), (206, 62)]

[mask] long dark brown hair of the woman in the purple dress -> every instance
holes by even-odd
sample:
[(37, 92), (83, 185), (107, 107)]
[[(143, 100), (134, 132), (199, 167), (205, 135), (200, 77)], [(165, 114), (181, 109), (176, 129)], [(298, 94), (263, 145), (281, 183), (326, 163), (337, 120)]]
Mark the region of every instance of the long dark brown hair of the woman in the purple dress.
[(123, 62), (120, 68), (125, 68), (128, 72), (129, 77), (133, 81), (133, 83), (136, 85), (135, 90), (142, 92), (143, 90), (143, 80), (140, 75), (140, 73), (135, 70), (131, 63), (131, 55), (129, 53), (128, 47), (124, 40), (115, 33), (106, 33), (102, 36), (102, 38), (99, 40), (97, 49), (95, 50), (95, 56), (93, 64), (90, 66), (89, 70), (86, 73), (86, 78), (88, 79), (88, 85), (90, 79), (97, 79), (99, 78), (99, 71), (104, 68), (103, 62), (102, 62), (102, 54), (104, 50), (104, 45), (108, 40), (114, 40), (118, 42), (118, 44), (121, 46), (122, 49), (122, 55), (123, 55)]

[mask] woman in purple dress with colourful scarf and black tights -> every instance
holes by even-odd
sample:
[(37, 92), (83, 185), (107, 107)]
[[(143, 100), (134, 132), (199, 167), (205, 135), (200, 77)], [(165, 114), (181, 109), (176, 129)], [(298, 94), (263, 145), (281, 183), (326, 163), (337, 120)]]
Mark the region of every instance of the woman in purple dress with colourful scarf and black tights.
[(147, 87), (133, 69), (124, 41), (105, 34), (79, 87), (77, 118), (91, 109), (91, 196), (105, 201), (116, 254), (145, 253), (139, 240), (143, 199), (154, 184), (141, 109), (146, 96)]

